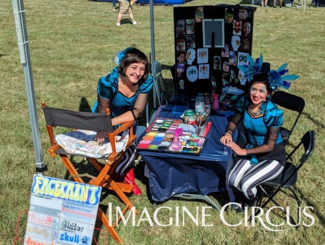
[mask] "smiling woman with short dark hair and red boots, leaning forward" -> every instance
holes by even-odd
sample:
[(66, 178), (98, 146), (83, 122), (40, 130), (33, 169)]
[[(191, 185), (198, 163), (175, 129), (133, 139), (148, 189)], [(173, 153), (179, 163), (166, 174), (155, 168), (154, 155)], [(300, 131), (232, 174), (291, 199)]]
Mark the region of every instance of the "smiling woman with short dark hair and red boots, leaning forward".
[[(118, 52), (115, 57), (118, 64), (111, 73), (98, 80), (96, 112), (110, 109), (112, 125), (137, 120), (145, 110), (148, 94), (153, 80), (149, 73), (149, 62), (140, 50), (129, 47)], [(97, 132), (96, 141), (103, 142), (105, 132)], [(121, 160), (118, 175), (124, 176), (124, 183), (133, 185), (134, 195), (141, 195), (141, 190), (134, 182), (133, 162), (135, 151), (129, 147), (125, 158)], [(131, 167), (131, 169), (129, 169)], [(129, 169), (129, 170), (127, 170)]]

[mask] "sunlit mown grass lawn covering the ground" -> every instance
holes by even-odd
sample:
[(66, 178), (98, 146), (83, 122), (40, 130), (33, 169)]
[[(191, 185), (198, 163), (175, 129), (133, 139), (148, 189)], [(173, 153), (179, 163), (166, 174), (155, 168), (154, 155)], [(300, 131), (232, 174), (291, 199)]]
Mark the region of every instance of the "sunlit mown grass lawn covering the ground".
[[(240, 1), (193, 0), (185, 5), (223, 2), (236, 4)], [(136, 5), (133, 8), (141, 25), (127, 24), (125, 18), (124, 24), (116, 27), (117, 13), (111, 10), (111, 2), (25, 0), (24, 6), (41, 143), (44, 162), (49, 169), (46, 175), (64, 179), (68, 175), (62, 163), (46, 153), (49, 141), (40, 102), (77, 110), (81, 101), (86, 100), (91, 106), (96, 100), (97, 80), (114, 66), (117, 50), (135, 44), (149, 54), (149, 7)], [(0, 244), (6, 245), (13, 243), (18, 211), (28, 210), (35, 160), (11, 1), (1, 0), (0, 14)], [(306, 11), (257, 6), (252, 45), (253, 57), (262, 52), (271, 68), (288, 62), (289, 72), (300, 76), (292, 82), (289, 92), (303, 97), (306, 106), (291, 143), (296, 144), (307, 130), (316, 131), (315, 151), (301, 169), (296, 185), (302, 206), (314, 208), (315, 224), (309, 228), (299, 226), (298, 229), (285, 226), (284, 231), (278, 233), (268, 232), (260, 225), (229, 228), (222, 224), (215, 210), (208, 210), (211, 216), (207, 223), (212, 223), (213, 227), (196, 227), (189, 220), (184, 227), (150, 227), (145, 222), (139, 227), (120, 226), (117, 232), (125, 244), (324, 244), (324, 14), (325, 8), (309, 5)], [(164, 67), (169, 67), (174, 60), (172, 7), (155, 6), (154, 18), (156, 59)], [(169, 82), (168, 87), (172, 88), (167, 68), (163, 70), (163, 76)], [(285, 112), (285, 124), (289, 125), (292, 120), (293, 115)], [(146, 179), (140, 170), (143, 170), (142, 165), (137, 166), (137, 183), (144, 195), (131, 196), (130, 200), (139, 211), (145, 207), (152, 215), (154, 210), (148, 191), (145, 195)], [(211, 198), (220, 205), (227, 202), (225, 192), (213, 194)], [(295, 207), (294, 201), (283, 193), (279, 194), (278, 201)], [(103, 205), (109, 202), (119, 205), (112, 195), (107, 196)], [(195, 207), (206, 205), (176, 199), (163, 204), (173, 210), (176, 206), (186, 206), (192, 213)], [(241, 219), (234, 212), (227, 212), (225, 217), (233, 223)], [(274, 223), (281, 222), (280, 217), (274, 217)], [(114, 244), (110, 238), (108, 243)]]

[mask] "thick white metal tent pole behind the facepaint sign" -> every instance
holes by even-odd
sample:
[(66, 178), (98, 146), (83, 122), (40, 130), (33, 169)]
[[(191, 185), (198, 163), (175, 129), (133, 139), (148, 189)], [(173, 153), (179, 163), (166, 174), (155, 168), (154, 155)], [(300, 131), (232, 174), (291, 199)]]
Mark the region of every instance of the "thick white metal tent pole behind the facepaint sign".
[(25, 77), (31, 134), (32, 134), (32, 140), (34, 144), (34, 152), (36, 158), (35, 159), (36, 172), (37, 174), (42, 175), (42, 172), (46, 169), (46, 166), (44, 166), (42, 147), (40, 142), (23, 0), (12, 0), (12, 9), (13, 9), (14, 23), (16, 27), (19, 58), (20, 58), (20, 63), (23, 66), (23, 73)]

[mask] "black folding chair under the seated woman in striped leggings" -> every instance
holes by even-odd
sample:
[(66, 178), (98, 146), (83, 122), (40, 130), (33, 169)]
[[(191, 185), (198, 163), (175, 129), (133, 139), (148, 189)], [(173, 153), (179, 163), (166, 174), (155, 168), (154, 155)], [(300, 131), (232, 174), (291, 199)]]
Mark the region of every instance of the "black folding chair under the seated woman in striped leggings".
[[(296, 184), (297, 179), (298, 179), (298, 170), (309, 159), (309, 157), (311, 156), (311, 154), (314, 150), (314, 147), (315, 147), (315, 131), (310, 130), (310, 131), (307, 131), (302, 136), (300, 142), (296, 145), (296, 147), (287, 156), (287, 158), (286, 158), (287, 162), (285, 164), (285, 167), (284, 167), (284, 170), (282, 171), (282, 173), (280, 175), (278, 175), (276, 178), (258, 185), (259, 189), (262, 191), (262, 194), (267, 197), (266, 202), (264, 202), (263, 205), (261, 205), (261, 208), (264, 208), (270, 201), (273, 202), (276, 206), (280, 207), (281, 205), (279, 205), (274, 200), (274, 197), (282, 188), (287, 188), (294, 196), (294, 199), (296, 200), (298, 207), (300, 206), (300, 200), (291, 187)], [(303, 150), (302, 155), (301, 155), (301, 157), (298, 157), (298, 160), (296, 160), (296, 163), (294, 163), (293, 161), (291, 161), (291, 159), (297, 159), (296, 157), (294, 157), (294, 155), (297, 154), (297, 150), (300, 148)], [(277, 187), (277, 188), (275, 191), (270, 193), (264, 189), (264, 186)], [(262, 201), (262, 200), (260, 200), (260, 201)], [(284, 210), (283, 212), (286, 214), (285, 209), (283, 209), (283, 210)], [(290, 218), (292, 224), (296, 224), (296, 222), (293, 220), (293, 218), (291, 216), (289, 216), (289, 218)]]

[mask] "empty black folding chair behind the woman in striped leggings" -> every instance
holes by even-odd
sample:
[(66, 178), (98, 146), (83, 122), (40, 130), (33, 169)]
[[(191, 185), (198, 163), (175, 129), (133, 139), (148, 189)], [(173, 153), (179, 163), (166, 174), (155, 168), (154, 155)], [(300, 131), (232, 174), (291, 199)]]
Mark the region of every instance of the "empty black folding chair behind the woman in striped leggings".
[(280, 107), (286, 108), (291, 111), (297, 112), (297, 116), (290, 128), (281, 127), (281, 136), (283, 138), (283, 143), (286, 145), (292, 134), (292, 131), (298, 122), (298, 119), (304, 108), (304, 100), (303, 98), (284, 92), (284, 91), (276, 91), (272, 97), (271, 101)]

